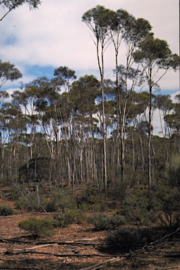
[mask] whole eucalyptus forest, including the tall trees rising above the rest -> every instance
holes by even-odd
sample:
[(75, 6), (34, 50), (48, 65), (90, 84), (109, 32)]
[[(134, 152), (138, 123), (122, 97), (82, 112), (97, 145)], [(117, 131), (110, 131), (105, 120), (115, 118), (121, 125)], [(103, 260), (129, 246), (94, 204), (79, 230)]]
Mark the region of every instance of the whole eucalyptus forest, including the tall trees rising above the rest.
[[(149, 190), (166, 184), (167, 167), (180, 153), (180, 95), (173, 103), (154, 91), (169, 70), (179, 70), (179, 56), (154, 37), (147, 20), (122, 9), (96, 6), (82, 21), (93, 34), (101, 79), (77, 79), (60, 66), (51, 79), (22, 84), (11, 96), (0, 92), (1, 184), (70, 186), (72, 193), (81, 183), (105, 193), (119, 184)], [(115, 81), (104, 78), (109, 45)], [(22, 75), (1, 61), (0, 77), (2, 86)], [(155, 110), (165, 123), (161, 136), (153, 136)]]

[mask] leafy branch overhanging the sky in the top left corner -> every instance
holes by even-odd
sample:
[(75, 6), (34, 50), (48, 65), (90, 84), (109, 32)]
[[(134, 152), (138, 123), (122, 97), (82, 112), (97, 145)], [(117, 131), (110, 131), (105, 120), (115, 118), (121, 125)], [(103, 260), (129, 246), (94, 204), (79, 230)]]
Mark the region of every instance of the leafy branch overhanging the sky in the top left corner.
[(27, 4), (30, 7), (30, 10), (38, 8), (41, 4), (40, 0), (0, 0), (1, 8), (4, 8), (6, 13), (0, 18), (0, 21), (3, 20), (8, 13), (15, 10), (16, 8), (20, 8), (23, 4)]

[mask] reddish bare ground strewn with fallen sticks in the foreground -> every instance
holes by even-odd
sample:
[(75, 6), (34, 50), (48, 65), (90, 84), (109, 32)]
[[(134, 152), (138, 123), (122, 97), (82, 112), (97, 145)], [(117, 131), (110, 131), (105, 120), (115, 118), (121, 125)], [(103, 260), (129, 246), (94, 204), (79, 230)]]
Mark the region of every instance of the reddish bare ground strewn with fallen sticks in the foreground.
[[(0, 204), (13, 207), (3, 199)], [(0, 217), (0, 269), (180, 269), (180, 233), (130, 256), (103, 248), (106, 232), (91, 225), (72, 224), (38, 240), (18, 227), (22, 219), (44, 216), (15, 210), (14, 216)]]

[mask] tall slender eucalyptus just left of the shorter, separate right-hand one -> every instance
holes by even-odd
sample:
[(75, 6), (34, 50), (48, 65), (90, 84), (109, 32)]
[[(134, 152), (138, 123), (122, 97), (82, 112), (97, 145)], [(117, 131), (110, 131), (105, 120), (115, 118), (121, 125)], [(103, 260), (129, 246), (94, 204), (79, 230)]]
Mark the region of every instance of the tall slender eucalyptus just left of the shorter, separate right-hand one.
[[(120, 11), (117, 11), (120, 13)], [(126, 45), (126, 64), (124, 67), (120, 65), (118, 72), (120, 75), (120, 86), (122, 88), (123, 99), (120, 103), (120, 141), (121, 141), (121, 177), (124, 181), (124, 158), (125, 158), (125, 146), (124, 146), (124, 127), (128, 115), (127, 101), (131, 96), (135, 86), (141, 85), (142, 75), (139, 70), (139, 66), (134, 68), (133, 53), (139, 42), (146, 39), (150, 35), (151, 25), (147, 20), (143, 18), (134, 18), (130, 15), (126, 17), (124, 22), (124, 44)]]

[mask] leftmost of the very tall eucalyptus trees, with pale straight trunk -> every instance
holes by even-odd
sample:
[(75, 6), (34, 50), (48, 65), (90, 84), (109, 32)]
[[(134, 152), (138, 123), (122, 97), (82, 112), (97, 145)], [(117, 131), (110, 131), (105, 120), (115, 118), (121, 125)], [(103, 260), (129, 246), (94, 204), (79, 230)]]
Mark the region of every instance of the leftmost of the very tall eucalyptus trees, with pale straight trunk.
[(103, 6), (96, 6), (86, 11), (82, 16), (82, 22), (86, 23), (94, 34), (94, 44), (96, 46), (96, 56), (98, 59), (98, 69), (101, 77), (101, 96), (102, 96), (102, 131), (103, 131), (103, 179), (104, 191), (107, 191), (107, 165), (106, 165), (106, 134), (105, 134), (105, 109), (104, 109), (104, 53), (107, 49), (110, 38), (109, 33), (109, 15), (111, 11)]

